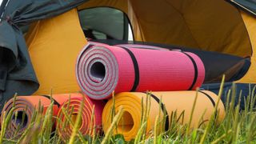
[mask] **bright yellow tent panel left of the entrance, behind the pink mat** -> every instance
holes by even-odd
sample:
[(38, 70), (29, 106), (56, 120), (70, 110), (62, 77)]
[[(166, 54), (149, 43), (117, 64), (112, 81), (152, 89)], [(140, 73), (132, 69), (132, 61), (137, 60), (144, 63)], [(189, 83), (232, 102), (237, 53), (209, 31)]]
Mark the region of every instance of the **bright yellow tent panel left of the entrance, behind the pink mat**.
[(26, 34), (31, 62), (40, 83), (35, 94), (74, 93), (76, 58), (86, 38), (76, 9), (36, 22)]

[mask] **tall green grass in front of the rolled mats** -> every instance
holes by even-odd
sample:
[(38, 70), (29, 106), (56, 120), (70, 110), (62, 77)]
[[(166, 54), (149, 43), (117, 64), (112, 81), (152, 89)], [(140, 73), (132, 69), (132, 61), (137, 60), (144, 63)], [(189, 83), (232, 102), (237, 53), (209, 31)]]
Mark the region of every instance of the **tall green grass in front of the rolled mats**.
[[(66, 142), (62, 142), (62, 139), (58, 137), (58, 134), (54, 133), (52, 130), (52, 126), (54, 125), (54, 122), (52, 122), (53, 103), (49, 106), (45, 115), (40, 113), (42, 110), (34, 112), (32, 122), (30, 122), (27, 129), (22, 132), (22, 134), (14, 132), (14, 138), (8, 139), (5, 134), (6, 128), (10, 123), (11, 113), (13, 111), (11, 110), (10, 114), (4, 113), (2, 115), (4, 120), (2, 122), (0, 133), (0, 143), (255, 143), (256, 112), (254, 110), (254, 104), (256, 98), (255, 95), (252, 95), (254, 94), (254, 90), (255, 87), (251, 90), (250, 95), (245, 100), (245, 110), (239, 110), (241, 103), (238, 102), (238, 105), (234, 106), (234, 99), (235, 94), (240, 92), (236, 92), (233, 86), (232, 90), (229, 90), (228, 94), (225, 95), (228, 99), (228, 102), (226, 102), (226, 118), (220, 124), (216, 121), (218, 110), (215, 109), (214, 114), (210, 118), (210, 122), (206, 125), (191, 130), (189, 129), (190, 123), (187, 125), (179, 125), (178, 122), (173, 120), (170, 123), (170, 130), (158, 134), (158, 129), (154, 129), (150, 137), (146, 136), (146, 118), (149, 113), (147, 111), (148, 109), (145, 109), (144, 107), (142, 108), (145, 110), (142, 114), (141, 128), (139, 129), (136, 138), (131, 142), (125, 142), (122, 135), (113, 135), (113, 131), (116, 130), (118, 121), (122, 118), (122, 107), (118, 110), (117, 114), (110, 114), (112, 116), (112, 124), (105, 135), (99, 136), (98, 134), (95, 134), (95, 130), (93, 129), (93, 126), (91, 126), (91, 130), (93, 130), (94, 134), (92, 137), (88, 135), (84, 136), (78, 130), (78, 124), (81, 121), (79, 115), (81, 115), (82, 109), (79, 110), (78, 118), (75, 122), (72, 122), (71, 118), (67, 118), (67, 121), (70, 122), (70, 126), (73, 127), (73, 131), (70, 140), (67, 140)], [(222, 95), (222, 89), (220, 90), (219, 95)], [(150, 101), (148, 98), (145, 100), (146, 107), (149, 107)], [(194, 101), (194, 104), (196, 104), (196, 101)], [(81, 104), (81, 108), (83, 105), (84, 103)], [(66, 114), (66, 116), (69, 117), (67, 110), (63, 109), (63, 112), (63, 114)], [(191, 114), (191, 117), (192, 116), (193, 113)], [(181, 118), (175, 114), (172, 114), (170, 117), (176, 120)], [(56, 119), (58, 121), (58, 118)], [(154, 126), (161, 127), (162, 125), (159, 125), (159, 123), (161, 123), (160, 121), (162, 118), (157, 119), (158, 121), (155, 122)], [(66, 124), (62, 123), (62, 125)]]

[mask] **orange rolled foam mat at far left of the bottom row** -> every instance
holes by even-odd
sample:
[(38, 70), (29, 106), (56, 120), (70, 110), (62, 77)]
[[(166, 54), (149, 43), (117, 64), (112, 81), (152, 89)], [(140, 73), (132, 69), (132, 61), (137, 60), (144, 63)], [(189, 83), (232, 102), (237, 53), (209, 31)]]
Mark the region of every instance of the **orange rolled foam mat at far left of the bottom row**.
[[(31, 118), (34, 111), (39, 110), (39, 106), (42, 106), (42, 113), (45, 114), (47, 108), (50, 106), (50, 103), (50, 98), (44, 96), (18, 96), (15, 101), (14, 113), (12, 114), (10, 122), (6, 128), (6, 138), (13, 138), (16, 132), (18, 132), (16, 136), (20, 136), (31, 123)], [(14, 98), (6, 102), (6, 105), (2, 109), (2, 116), (4, 111), (6, 111), (6, 115), (9, 114), (10, 110), (13, 108), (13, 105)], [(58, 114), (58, 105), (54, 104), (53, 110), (53, 114), (56, 116)], [(17, 114), (17, 117), (15, 114)], [(3, 117), (1, 117), (1, 122), (2, 120)]]

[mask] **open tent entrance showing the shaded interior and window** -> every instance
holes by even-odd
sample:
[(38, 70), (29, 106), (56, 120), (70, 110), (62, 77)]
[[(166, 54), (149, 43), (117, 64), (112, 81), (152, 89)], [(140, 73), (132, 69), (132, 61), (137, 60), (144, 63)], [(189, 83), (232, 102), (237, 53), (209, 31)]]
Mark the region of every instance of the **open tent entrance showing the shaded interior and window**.
[[(178, 4), (179, 1), (175, 2)], [(88, 5), (78, 8), (78, 15), (84, 34), (92, 41), (110, 45), (128, 43), (130, 35), (133, 35), (132, 32), (129, 33), (132, 28), (132, 38), (135, 39), (130, 43), (180, 49), (198, 54), (206, 67), (205, 83), (221, 82), (223, 74), (226, 74), (226, 81), (234, 82), (241, 79), (250, 68), (250, 38), (237, 9), (228, 2), (210, 2), (213, 2), (213, 5), (202, 1), (195, 2), (194, 7), (190, 7), (191, 13), (182, 16), (182, 10), (166, 10), (166, 13), (170, 13), (167, 14), (168, 18), (166, 13), (157, 14), (158, 17), (166, 17), (162, 20), (158, 18), (160, 21), (154, 20), (156, 14), (150, 16), (152, 20), (146, 20), (148, 17), (144, 13), (151, 14), (147, 9), (136, 10), (136, 24), (141, 29), (142, 42), (137, 42), (141, 41), (136, 35), (138, 30), (135, 29), (138, 27), (134, 26), (134, 23), (130, 24), (129, 18), (133, 16), (125, 7)], [(136, 6), (136, 2), (131, 4)], [(195, 9), (199, 4), (205, 6), (203, 10)], [(129, 6), (128, 8), (136, 9)], [(165, 6), (162, 7), (164, 8)], [(204, 10), (208, 10), (207, 15), (202, 14)]]

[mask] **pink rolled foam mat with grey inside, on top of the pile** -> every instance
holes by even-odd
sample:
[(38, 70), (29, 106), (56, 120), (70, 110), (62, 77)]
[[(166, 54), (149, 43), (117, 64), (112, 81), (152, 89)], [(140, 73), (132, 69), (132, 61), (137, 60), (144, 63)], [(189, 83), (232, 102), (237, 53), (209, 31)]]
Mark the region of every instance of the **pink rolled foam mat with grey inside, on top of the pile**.
[(78, 84), (93, 99), (127, 91), (195, 90), (205, 78), (196, 54), (108, 46), (87, 46), (78, 56)]

